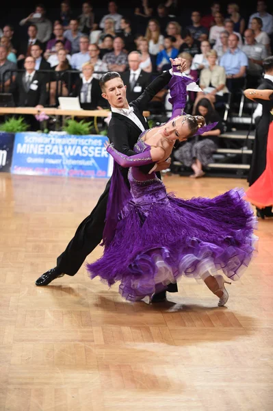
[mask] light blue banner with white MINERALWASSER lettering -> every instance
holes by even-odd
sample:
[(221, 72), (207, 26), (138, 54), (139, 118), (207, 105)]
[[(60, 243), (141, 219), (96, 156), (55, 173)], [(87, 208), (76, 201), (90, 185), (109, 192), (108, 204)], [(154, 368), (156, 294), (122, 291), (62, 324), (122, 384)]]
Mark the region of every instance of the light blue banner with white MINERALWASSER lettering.
[(105, 136), (17, 133), (12, 173), (107, 178), (112, 175), (112, 157)]

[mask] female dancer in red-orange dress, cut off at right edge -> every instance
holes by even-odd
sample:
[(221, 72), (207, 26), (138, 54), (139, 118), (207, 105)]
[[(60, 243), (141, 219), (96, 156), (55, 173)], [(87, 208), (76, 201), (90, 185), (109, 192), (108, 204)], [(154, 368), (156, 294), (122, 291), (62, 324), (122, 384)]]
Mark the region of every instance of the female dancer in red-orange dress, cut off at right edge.
[[(266, 166), (261, 176), (246, 191), (246, 199), (256, 207), (261, 209), (273, 205), (273, 90), (255, 90), (248, 88), (244, 90), (244, 95), (253, 101), (270, 100), (271, 102), (271, 123), (268, 130), (268, 143), (266, 147)], [(261, 212), (261, 217), (265, 216)]]

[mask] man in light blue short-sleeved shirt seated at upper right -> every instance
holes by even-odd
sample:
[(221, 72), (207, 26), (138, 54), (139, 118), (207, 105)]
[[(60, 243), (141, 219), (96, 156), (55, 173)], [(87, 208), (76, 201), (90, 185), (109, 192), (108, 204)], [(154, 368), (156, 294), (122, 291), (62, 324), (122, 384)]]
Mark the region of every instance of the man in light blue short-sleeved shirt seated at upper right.
[(226, 86), (230, 92), (235, 92), (244, 86), (248, 57), (238, 47), (237, 34), (229, 35), (229, 50), (222, 55), (220, 66), (226, 71)]

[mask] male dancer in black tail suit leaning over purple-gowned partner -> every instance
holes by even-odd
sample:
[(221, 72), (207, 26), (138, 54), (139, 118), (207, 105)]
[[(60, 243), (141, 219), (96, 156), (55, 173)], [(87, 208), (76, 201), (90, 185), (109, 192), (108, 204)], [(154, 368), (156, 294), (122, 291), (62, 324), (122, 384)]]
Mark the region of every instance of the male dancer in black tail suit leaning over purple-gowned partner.
[[(186, 64), (182, 58), (177, 59), (181, 67), (181, 71), (185, 71)], [(126, 98), (126, 86), (123, 84), (120, 75), (116, 72), (108, 72), (100, 79), (102, 96), (107, 99), (112, 109), (112, 119), (109, 122), (108, 137), (110, 142), (113, 142), (116, 149), (126, 155), (133, 155), (133, 146), (138, 141), (141, 132), (148, 129), (148, 124), (142, 115), (142, 111), (148, 101), (164, 88), (172, 77), (171, 71), (167, 71), (159, 75), (148, 87), (142, 95), (135, 101), (132, 101), (130, 106)], [(169, 162), (157, 164), (156, 171), (167, 169)], [(144, 166), (144, 172), (147, 173), (153, 169), (155, 164)], [(128, 169), (122, 169), (122, 175), (125, 182), (129, 186)], [(101, 195), (96, 207), (91, 212), (90, 216), (79, 225), (75, 236), (70, 240), (66, 250), (57, 258), (57, 266), (42, 274), (37, 280), (37, 286), (47, 286), (53, 279), (62, 277), (64, 274), (75, 275), (81, 264), (90, 254), (93, 249), (99, 245), (103, 236), (105, 225), (105, 216), (107, 208), (107, 200), (111, 179), (107, 182), (105, 191)], [(177, 284), (170, 284), (169, 291), (177, 291)], [(153, 301), (162, 301), (164, 295), (159, 293), (153, 298)]]

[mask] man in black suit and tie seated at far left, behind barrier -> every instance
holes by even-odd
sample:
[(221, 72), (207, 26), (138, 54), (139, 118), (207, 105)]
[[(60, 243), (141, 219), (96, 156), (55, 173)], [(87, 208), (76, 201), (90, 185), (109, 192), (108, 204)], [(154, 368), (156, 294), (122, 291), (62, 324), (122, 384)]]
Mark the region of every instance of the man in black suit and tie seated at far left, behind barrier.
[(18, 107), (43, 108), (47, 101), (47, 90), (44, 76), (35, 70), (35, 59), (31, 56), (25, 59), (25, 71), (18, 73), (10, 86), (16, 94)]

